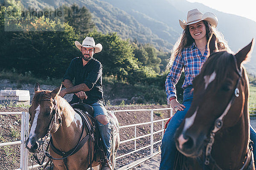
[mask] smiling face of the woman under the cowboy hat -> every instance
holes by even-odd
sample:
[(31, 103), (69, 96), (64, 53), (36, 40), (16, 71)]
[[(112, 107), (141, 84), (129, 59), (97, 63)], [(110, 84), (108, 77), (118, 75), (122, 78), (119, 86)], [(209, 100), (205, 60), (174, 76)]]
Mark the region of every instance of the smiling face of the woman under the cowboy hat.
[(206, 27), (205, 27), (203, 21), (189, 25), (189, 33), (195, 41), (207, 39), (206, 38)]

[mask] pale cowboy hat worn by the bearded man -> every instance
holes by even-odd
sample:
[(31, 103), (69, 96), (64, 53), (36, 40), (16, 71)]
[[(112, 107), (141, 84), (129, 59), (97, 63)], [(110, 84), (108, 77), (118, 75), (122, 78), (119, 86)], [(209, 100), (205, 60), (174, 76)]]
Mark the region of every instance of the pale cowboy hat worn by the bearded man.
[(80, 44), (80, 42), (75, 41), (75, 45), (79, 50), (81, 50), (81, 47), (85, 47), (85, 48), (95, 48), (95, 53), (99, 53), (100, 51), (102, 51), (102, 45), (100, 43), (95, 45), (95, 41), (93, 37), (85, 37), (82, 45)]

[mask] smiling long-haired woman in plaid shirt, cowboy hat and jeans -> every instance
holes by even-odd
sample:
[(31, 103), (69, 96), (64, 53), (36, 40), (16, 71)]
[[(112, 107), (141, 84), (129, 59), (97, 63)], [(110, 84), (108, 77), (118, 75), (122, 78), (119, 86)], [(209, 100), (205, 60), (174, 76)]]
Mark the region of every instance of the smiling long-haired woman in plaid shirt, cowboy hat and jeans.
[[(207, 55), (207, 42), (210, 35), (212, 33), (216, 35), (219, 49), (231, 52), (223, 35), (216, 29), (218, 19), (215, 14), (210, 12), (202, 14), (198, 9), (193, 9), (188, 11), (187, 21), (182, 22), (179, 20), (179, 22), (183, 28), (183, 33), (172, 49), (172, 55), (167, 68), (170, 68), (171, 65), (172, 67), (166, 77), (165, 84), (167, 103), (174, 110), (177, 109), (177, 113), (172, 117), (163, 136), (160, 170), (173, 170), (174, 168), (175, 153), (177, 152), (174, 134), (177, 127), (183, 121), (193, 100), (192, 81), (200, 73), (204, 62), (207, 61), (209, 56)], [(182, 85), (184, 89), (183, 102), (180, 104), (177, 101), (175, 85), (180, 79), (182, 70), (185, 72), (185, 81)], [(256, 145), (256, 132), (252, 127), (250, 131), (251, 139), (255, 141), (254, 145)]]

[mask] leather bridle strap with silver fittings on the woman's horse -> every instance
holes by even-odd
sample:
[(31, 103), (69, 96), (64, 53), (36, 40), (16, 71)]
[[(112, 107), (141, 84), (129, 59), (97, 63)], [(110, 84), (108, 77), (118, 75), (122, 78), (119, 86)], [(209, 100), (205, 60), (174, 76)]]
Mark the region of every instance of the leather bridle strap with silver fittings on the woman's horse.
[[(224, 117), (227, 115), (227, 113), (230, 110), (231, 105), (233, 104), (233, 102), (236, 99), (236, 97), (239, 97), (239, 88), (238, 88), (238, 86), (239, 86), (239, 82), (240, 82), (241, 77), (242, 77), (242, 69), (238, 68), (237, 60), (236, 60), (236, 57), (234, 55), (233, 55), (233, 58), (235, 60), (236, 73), (239, 75), (239, 79), (236, 82), (236, 88), (235, 88), (234, 94), (233, 94), (232, 98), (230, 99), (230, 102), (228, 103), (226, 109), (221, 114), (221, 116), (218, 117), (218, 119), (215, 120), (214, 129), (210, 132), (210, 139), (209, 139), (209, 142), (207, 143), (206, 149), (205, 149), (204, 165), (209, 165), (210, 164), (210, 160), (211, 160), (212, 162), (214, 162), (214, 164), (218, 168), (218, 170), (222, 170), (222, 169), (216, 164), (216, 162), (213, 160), (213, 158), (211, 156), (212, 145), (214, 144), (214, 141), (215, 141), (215, 139), (214, 139), (215, 133), (218, 132), (221, 129), (221, 127), (223, 126), (223, 119), (224, 119)], [(247, 148), (247, 150), (248, 150), (248, 148)], [(252, 159), (251, 154), (252, 154), (251, 152), (250, 152), (250, 155), (249, 155), (249, 152), (247, 152), (246, 162), (244, 163), (243, 167), (240, 170), (244, 170), (244, 167), (248, 163), (249, 159)]]

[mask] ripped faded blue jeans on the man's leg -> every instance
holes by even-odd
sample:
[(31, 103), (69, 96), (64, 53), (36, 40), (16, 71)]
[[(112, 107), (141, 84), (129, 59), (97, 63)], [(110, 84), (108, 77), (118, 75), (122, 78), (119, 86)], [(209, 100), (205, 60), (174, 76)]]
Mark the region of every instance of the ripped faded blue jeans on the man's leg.
[[(96, 102), (96, 103), (93, 103), (91, 106), (93, 107), (93, 111), (94, 111), (93, 117), (95, 119), (96, 119), (96, 116), (99, 116), (99, 115), (108, 116), (107, 110), (102, 103)], [(108, 124), (103, 125), (97, 119), (96, 119), (96, 122), (99, 125), (99, 132), (102, 137), (103, 145), (105, 147), (105, 153), (106, 153), (107, 159), (109, 160), (110, 153), (111, 153), (111, 139), (110, 139), (111, 124), (110, 124), (110, 122), (108, 122)]]

